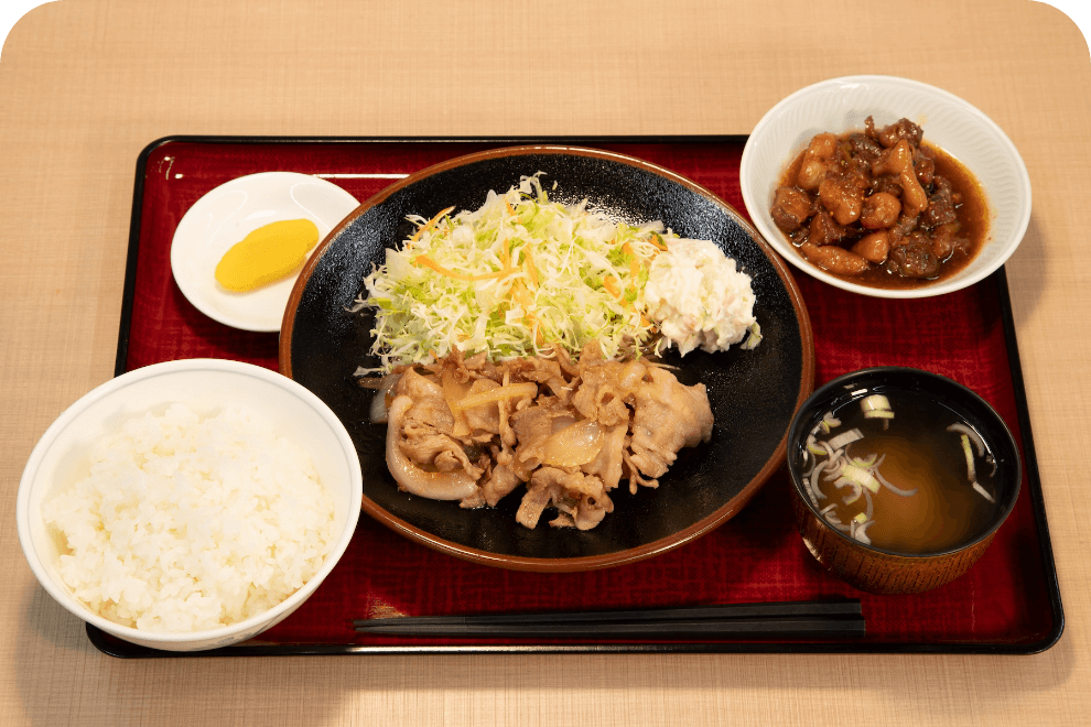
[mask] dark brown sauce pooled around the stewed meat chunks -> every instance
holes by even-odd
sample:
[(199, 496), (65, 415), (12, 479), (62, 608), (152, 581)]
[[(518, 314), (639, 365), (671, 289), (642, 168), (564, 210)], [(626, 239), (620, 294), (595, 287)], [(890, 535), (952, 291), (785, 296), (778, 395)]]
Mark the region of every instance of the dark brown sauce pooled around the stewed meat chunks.
[[(845, 132), (844, 134), (841, 134), (839, 139), (846, 138), (849, 133), (852, 132)], [(839, 280), (843, 280), (849, 283), (857, 283), (867, 287), (916, 290), (920, 287), (928, 287), (929, 285), (935, 285), (938, 282), (953, 278), (964, 270), (966, 265), (973, 262), (975, 257), (977, 257), (977, 253), (981, 252), (981, 248), (984, 247), (985, 240), (989, 236), (989, 203), (985, 199), (984, 189), (981, 188), (981, 184), (977, 182), (977, 178), (972, 172), (970, 172), (970, 170), (965, 167), (964, 164), (962, 164), (962, 162), (958, 161), (942, 149), (929, 143), (928, 141), (922, 141), (920, 145), (927, 148), (935, 155), (936, 174), (946, 176), (950, 180), (953, 191), (962, 195), (962, 204), (958, 207), (957, 215), (959, 218), (959, 225), (961, 226), (959, 234), (970, 240), (969, 251), (965, 254), (952, 257), (940, 267), (939, 274), (936, 278), (929, 278), (926, 280), (895, 275), (888, 273), (882, 265), (876, 265), (868, 272), (860, 275), (839, 275), (829, 270), (823, 270), (823, 272), (833, 275)], [(803, 163), (804, 153), (807, 153), (806, 149), (799, 152), (799, 155), (796, 156), (792, 163), (785, 169), (785, 172), (780, 177), (780, 186), (795, 186), (796, 177), (799, 175), (799, 169)], [(781, 232), (781, 235), (784, 235), (784, 232)], [(785, 239), (791, 242), (791, 238), (787, 235), (785, 235)], [(796, 247), (795, 243), (792, 245)], [(802, 252), (799, 252), (798, 247), (797, 253), (800, 258), (806, 260)], [(815, 268), (818, 268), (818, 265), (815, 265)]]

